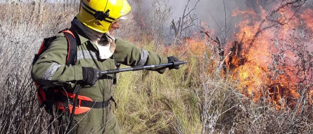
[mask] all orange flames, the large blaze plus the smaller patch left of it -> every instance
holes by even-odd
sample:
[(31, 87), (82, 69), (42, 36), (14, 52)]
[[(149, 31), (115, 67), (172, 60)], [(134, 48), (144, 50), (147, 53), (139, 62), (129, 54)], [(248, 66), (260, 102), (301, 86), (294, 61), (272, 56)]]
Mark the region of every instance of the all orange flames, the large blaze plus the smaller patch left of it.
[[(256, 3), (259, 4), (259, 1)], [(258, 9), (233, 10), (232, 17), (240, 19), (240, 22), (234, 24), (235, 32), (224, 48), (224, 54), (232, 51), (225, 62), (232, 78), (239, 80), (239, 90), (255, 102), (265, 98), (265, 102), (277, 109), (295, 106), (300, 94), (297, 88), (298, 77), (288, 71), (295, 70), (292, 68), (293, 63), (286, 62), (286, 66), (278, 67), (283, 71), (281, 74), (275, 74), (278, 76), (271, 74), (273, 70), (269, 65), (273, 62), (272, 52), (279, 53), (274, 47), (274, 41), (288, 42), (290, 33), (303, 28), (306, 29), (305, 32), (311, 33), (313, 41), (313, 9), (297, 10), (286, 6), (284, 10), (278, 10), (275, 17), (270, 18), (272, 9), (280, 4), (272, 2), (271, 5), (265, 5), (266, 7), (253, 7)], [(207, 27), (203, 22), (200, 25)], [(210, 33), (214, 35), (213, 30)], [(192, 37), (184, 38), (181, 45), (171, 46), (167, 52), (179, 55), (188, 51), (191, 55), (202, 55), (203, 50), (208, 50), (204, 40), (212, 41), (212, 38), (203, 39), (199, 34), (193, 33)], [(310, 44), (312, 45), (312, 42)], [(313, 49), (312, 46), (309, 47)], [(291, 60), (295, 59), (295, 54), (290, 51), (286, 51), (285, 56)], [(313, 99), (313, 90), (309, 93), (307, 98)]]

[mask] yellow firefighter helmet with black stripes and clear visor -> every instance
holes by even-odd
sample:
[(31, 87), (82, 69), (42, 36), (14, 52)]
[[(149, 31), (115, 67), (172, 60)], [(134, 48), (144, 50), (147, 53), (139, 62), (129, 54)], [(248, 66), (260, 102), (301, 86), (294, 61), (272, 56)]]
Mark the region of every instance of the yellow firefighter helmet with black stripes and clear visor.
[(118, 19), (132, 19), (126, 0), (81, 0), (77, 19), (89, 28), (106, 33)]

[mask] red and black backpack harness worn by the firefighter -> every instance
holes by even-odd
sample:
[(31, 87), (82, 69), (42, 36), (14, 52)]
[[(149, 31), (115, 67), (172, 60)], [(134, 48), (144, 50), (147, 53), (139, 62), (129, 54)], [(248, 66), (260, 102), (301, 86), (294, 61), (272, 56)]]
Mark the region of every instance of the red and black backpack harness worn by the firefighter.
[[(75, 65), (75, 57), (77, 54), (77, 45), (80, 45), (80, 40), (75, 40), (76, 38), (79, 39), (78, 34), (74, 28), (65, 29), (63, 31), (60, 31), (59, 33), (64, 33), (64, 36), (67, 40), (68, 45), (68, 53), (66, 57), (66, 65)], [(35, 55), (35, 58), (33, 60), (33, 65), (38, 60), (38, 57), (44, 53), (44, 51), (47, 50), (50, 43), (56, 39), (56, 36), (45, 38), (42, 42), (38, 53)], [(118, 67), (117, 62), (115, 60), (115, 65)], [(74, 114), (80, 114), (83, 112), (89, 111), (91, 108), (103, 108), (107, 107), (109, 104), (109, 101), (112, 100), (114, 103), (114, 99), (111, 97), (109, 100), (104, 102), (93, 102), (91, 98), (88, 98), (86, 96), (77, 96), (78, 103), (75, 106), (75, 110), (73, 109), (73, 103), (75, 94), (66, 92), (66, 90), (62, 89), (62, 87), (48, 87), (44, 88), (44, 85), (37, 84), (36, 82), (35, 86), (37, 88), (37, 95), (38, 95), (38, 101), (40, 104), (40, 107), (44, 107), (45, 111), (49, 114), (52, 114), (55, 109), (58, 109), (60, 111), (68, 112), (69, 114), (72, 114), (72, 111), (74, 111)], [(113, 76), (113, 84), (116, 84), (116, 74)], [(116, 107), (116, 103), (115, 103)]]

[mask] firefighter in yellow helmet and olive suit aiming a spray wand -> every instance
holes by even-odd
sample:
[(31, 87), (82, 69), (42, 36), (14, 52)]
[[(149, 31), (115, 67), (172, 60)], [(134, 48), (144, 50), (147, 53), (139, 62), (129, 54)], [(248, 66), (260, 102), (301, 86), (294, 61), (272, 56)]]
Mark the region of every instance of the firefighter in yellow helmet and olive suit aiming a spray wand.
[[(64, 91), (57, 103), (59, 130), (65, 133), (107, 133), (120, 134), (117, 119), (110, 109), (114, 74), (100, 77), (100, 71), (115, 69), (116, 63), (141, 66), (178, 61), (174, 56), (160, 55), (138, 48), (114, 36), (119, 19), (132, 19), (131, 7), (126, 0), (82, 0), (78, 15), (71, 22), (80, 42), (74, 64), (66, 65), (68, 41), (63, 33), (56, 35), (49, 47), (33, 64), (31, 76), (43, 87), (58, 87)], [(179, 69), (179, 66), (170, 66)], [(160, 74), (165, 69), (151, 69)], [(78, 106), (75, 107), (73, 125), (69, 126), (69, 109), (73, 107), (71, 92), (76, 84), (84, 85), (79, 90)], [(62, 95), (61, 95), (62, 96)], [(67, 99), (64, 99), (65, 98)], [(66, 101), (64, 101), (66, 100)]]

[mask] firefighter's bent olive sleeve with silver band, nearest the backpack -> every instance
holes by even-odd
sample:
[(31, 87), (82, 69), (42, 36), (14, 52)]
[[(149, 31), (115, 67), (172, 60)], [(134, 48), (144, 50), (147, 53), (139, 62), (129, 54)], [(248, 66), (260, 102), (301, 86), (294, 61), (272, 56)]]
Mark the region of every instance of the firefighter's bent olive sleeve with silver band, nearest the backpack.
[(47, 50), (41, 54), (33, 65), (31, 76), (33, 80), (46, 86), (69, 86), (74, 87), (76, 81), (83, 79), (82, 66), (67, 66), (67, 40), (63, 34), (57, 34)]

